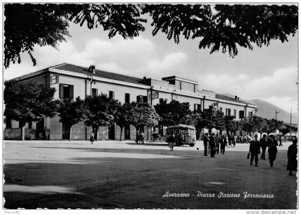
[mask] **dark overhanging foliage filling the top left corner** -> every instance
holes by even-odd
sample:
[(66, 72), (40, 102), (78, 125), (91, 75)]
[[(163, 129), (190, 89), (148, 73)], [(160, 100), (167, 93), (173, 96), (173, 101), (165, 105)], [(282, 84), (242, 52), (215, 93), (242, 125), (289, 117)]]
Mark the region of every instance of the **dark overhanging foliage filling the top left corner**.
[(59, 42), (70, 37), (69, 21), (80, 24), (85, 22), (89, 29), (102, 25), (109, 31), (109, 38), (118, 33), (123, 38), (133, 38), (144, 31), (141, 23), (141, 6), (112, 4), (5, 4), (4, 54), (5, 68), (10, 62), (21, 62), (20, 53), (27, 52), (33, 57), (34, 45), (50, 45), (58, 49)]

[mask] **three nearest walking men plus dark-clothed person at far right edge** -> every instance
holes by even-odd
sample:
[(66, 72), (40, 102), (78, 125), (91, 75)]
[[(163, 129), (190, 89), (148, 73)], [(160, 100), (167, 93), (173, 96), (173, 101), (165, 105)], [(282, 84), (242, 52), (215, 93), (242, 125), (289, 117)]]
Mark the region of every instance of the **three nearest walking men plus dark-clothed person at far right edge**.
[[(268, 138), (264, 134), (260, 141), (257, 140), (258, 135), (254, 136), (254, 140), (250, 142), (249, 153), (251, 155), (250, 165), (252, 166), (253, 160), (255, 158), (255, 166), (258, 167), (258, 154), (260, 154), (260, 148), (262, 149), (261, 159), (265, 160), (265, 151), (268, 148), (268, 159), (270, 161), (270, 167), (273, 167), (274, 161), (277, 156), (277, 138), (271, 134)], [(282, 141), (281, 141), (282, 142)], [(292, 171), (297, 171), (297, 139), (294, 137), (293, 144), (288, 147), (287, 151), (287, 170), (290, 171), (289, 175), (293, 176)], [(280, 146), (280, 145), (279, 145)]]

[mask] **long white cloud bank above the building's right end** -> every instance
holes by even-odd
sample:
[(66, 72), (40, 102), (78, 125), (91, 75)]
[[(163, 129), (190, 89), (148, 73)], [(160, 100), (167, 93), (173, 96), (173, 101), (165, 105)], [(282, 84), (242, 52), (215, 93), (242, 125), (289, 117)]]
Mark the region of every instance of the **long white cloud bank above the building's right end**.
[(200, 88), (221, 93), (230, 93), (244, 99), (261, 97), (296, 97), (297, 68), (277, 69), (272, 76), (241, 74), (204, 75), (199, 80)]

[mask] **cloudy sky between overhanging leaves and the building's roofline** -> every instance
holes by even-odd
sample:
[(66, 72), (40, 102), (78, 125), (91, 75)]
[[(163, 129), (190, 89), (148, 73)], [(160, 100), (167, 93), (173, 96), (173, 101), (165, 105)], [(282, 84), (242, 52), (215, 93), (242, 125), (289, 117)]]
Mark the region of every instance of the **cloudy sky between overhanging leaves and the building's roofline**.
[[(148, 16), (147, 16), (148, 17)], [(288, 42), (270, 41), (268, 47), (253, 50), (238, 47), (234, 58), (228, 53), (199, 49), (200, 38), (179, 44), (158, 32), (152, 35), (151, 18), (145, 31), (133, 40), (116, 35), (109, 39), (101, 26), (92, 30), (70, 23), (71, 38), (60, 43), (59, 51), (50, 46), (33, 47), (37, 65), (21, 54), (21, 63), (4, 70), (6, 80), (61, 63), (71, 63), (135, 77), (159, 79), (176, 75), (199, 82), (199, 89), (230, 93), (241, 100), (262, 99), (287, 112), (297, 112), (298, 35)]]

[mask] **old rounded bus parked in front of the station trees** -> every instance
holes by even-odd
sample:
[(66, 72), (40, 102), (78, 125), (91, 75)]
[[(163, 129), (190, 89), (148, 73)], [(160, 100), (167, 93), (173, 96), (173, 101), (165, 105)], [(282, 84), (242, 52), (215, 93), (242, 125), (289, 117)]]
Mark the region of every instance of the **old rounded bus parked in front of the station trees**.
[[(182, 133), (184, 136), (184, 140), (182, 143), (179, 143), (178, 134)], [(197, 142), (197, 137), (195, 133), (195, 127), (190, 125), (175, 125), (166, 128), (165, 131), (165, 142), (167, 142), (167, 138), (170, 135), (175, 135), (175, 146), (183, 146), (184, 144), (189, 145), (191, 147)]]

